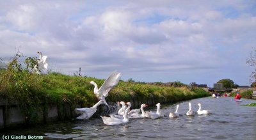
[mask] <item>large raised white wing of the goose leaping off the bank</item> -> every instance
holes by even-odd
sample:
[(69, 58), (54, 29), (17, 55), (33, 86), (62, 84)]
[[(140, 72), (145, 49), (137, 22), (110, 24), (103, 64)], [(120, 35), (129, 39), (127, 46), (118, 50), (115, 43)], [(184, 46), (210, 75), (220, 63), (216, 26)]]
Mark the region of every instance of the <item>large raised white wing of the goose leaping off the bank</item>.
[(99, 88), (100, 95), (103, 95), (104, 97), (108, 97), (108, 92), (119, 82), (121, 77), (120, 72), (112, 72), (111, 75), (109, 75), (108, 79), (104, 81), (102, 86)]

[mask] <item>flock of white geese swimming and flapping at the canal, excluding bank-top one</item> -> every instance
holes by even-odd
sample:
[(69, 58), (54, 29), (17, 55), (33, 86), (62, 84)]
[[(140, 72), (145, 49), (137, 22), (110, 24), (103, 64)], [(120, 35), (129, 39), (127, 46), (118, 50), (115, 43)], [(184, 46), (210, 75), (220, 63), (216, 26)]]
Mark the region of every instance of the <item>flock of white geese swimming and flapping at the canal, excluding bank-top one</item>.
[[(80, 116), (77, 117), (77, 119), (83, 119), (87, 120), (90, 117), (93, 116), (93, 114), (97, 111), (97, 106), (100, 104), (107, 104), (105, 98), (108, 97), (109, 91), (118, 83), (120, 80), (121, 74), (120, 72), (113, 72), (111, 75), (109, 75), (108, 79), (104, 81), (102, 86), (98, 88), (97, 84), (93, 81), (90, 82), (90, 84), (94, 85), (94, 94), (98, 98), (99, 102), (97, 104), (93, 105), (92, 107), (88, 108), (76, 108), (75, 112), (79, 113)], [(157, 103), (157, 111), (144, 111), (144, 107), (147, 107), (147, 104), (141, 104), (140, 109), (130, 109), (131, 108), (131, 102), (123, 102), (121, 101), (119, 104), (122, 105), (120, 109), (118, 110), (117, 114), (109, 114), (108, 116), (100, 116), (103, 120), (103, 123), (106, 125), (120, 125), (122, 123), (129, 122), (129, 119), (137, 119), (137, 118), (150, 118), (150, 119), (157, 119), (164, 116), (164, 114), (161, 111), (161, 104)], [(197, 111), (197, 114), (209, 114), (211, 111), (207, 110), (201, 110), (201, 104), (198, 104), (199, 108)], [(178, 112), (179, 104), (177, 105), (176, 111), (169, 114), (170, 118), (176, 118), (179, 117), (180, 114)], [(141, 112), (141, 114), (140, 114)], [(189, 102), (189, 111), (186, 113), (187, 116), (194, 116), (196, 113), (191, 109), (191, 103)]]

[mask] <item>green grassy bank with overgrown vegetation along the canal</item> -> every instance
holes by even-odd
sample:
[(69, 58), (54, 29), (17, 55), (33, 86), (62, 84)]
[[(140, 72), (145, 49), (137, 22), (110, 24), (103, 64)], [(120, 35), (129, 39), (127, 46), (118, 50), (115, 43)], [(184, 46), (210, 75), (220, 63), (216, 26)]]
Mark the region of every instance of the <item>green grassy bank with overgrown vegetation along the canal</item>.
[[(31, 72), (33, 59), (26, 61), (25, 68), (18, 63), (16, 56), (8, 65), (7, 70), (0, 70), (0, 99), (16, 102), (24, 110), (28, 120), (39, 120), (38, 111), (47, 103), (69, 104), (74, 108), (77, 103), (84, 107), (91, 107), (97, 98), (93, 94), (95, 81), (100, 87), (104, 79), (93, 77), (79, 77), (49, 72), (47, 75), (38, 75)], [(30, 68), (30, 69), (29, 69)], [(192, 98), (207, 97), (209, 93), (201, 88), (188, 86), (175, 87), (147, 84), (145, 82), (120, 81), (113, 88), (107, 102), (124, 100), (125, 102), (138, 98), (145, 101), (165, 99), (168, 102), (178, 102)]]

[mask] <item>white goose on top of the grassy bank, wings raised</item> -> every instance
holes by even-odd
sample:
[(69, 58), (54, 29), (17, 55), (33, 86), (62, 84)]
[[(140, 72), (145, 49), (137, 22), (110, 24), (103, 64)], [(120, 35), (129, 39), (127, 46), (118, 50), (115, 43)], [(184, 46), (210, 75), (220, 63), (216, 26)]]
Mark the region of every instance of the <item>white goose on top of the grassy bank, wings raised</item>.
[(39, 54), (39, 59), (37, 60), (37, 65), (34, 66), (33, 71), (40, 75), (43, 70), (47, 70), (48, 63), (46, 61), (47, 56), (43, 56), (42, 52), (37, 53)]

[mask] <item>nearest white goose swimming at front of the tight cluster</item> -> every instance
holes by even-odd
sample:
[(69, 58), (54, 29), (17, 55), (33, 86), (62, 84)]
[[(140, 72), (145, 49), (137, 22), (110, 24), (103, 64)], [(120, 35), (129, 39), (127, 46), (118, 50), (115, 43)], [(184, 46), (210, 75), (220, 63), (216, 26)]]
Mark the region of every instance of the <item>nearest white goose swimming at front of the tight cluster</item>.
[(123, 119), (118, 119), (118, 118), (111, 118), (111, 117), (106, 117), (106, 116), (100, 116), (103, 120), (103, 123), (106, 125), (120, 125), (122, 123), (128, 123), (129, 122), (129, 118), (127, 116), (129, 109), (131, 107), (131, 103), (128, 102), (127, 103), (128, 107), (127, 109), (125, 109), (125, 113), (124, 113), (124, 118)]

